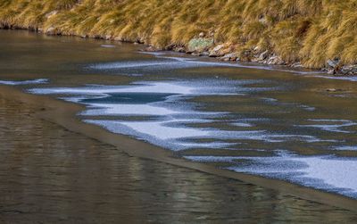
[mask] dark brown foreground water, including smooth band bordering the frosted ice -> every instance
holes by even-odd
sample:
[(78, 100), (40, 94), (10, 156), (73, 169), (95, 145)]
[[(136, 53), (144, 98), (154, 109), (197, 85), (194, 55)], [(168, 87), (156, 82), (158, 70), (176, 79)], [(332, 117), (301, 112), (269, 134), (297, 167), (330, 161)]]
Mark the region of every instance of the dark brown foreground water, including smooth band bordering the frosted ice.
[(81, 122), (77, 104), (0, 98), (4, 223), (357, 221), (355, 200), (187, 162)]

